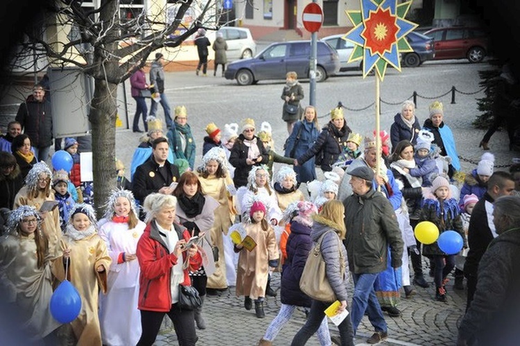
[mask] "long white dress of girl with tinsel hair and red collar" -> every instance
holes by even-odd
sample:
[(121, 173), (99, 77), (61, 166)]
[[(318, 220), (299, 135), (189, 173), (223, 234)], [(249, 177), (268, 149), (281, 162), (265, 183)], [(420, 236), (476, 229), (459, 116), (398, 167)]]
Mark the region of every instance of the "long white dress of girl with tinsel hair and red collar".
[(99, 294), (99, 320), (103, 345), (136, 345), (141, 338), (139, 301), (139, 261), (118, 263), (121, 252), (135, 254), (137, 242), (146, 227), (139, 221), (133, 230), (128, 223), (109, 221), (98, 231), (107, 243), (112, 264), (108, 271), (107, 293)]

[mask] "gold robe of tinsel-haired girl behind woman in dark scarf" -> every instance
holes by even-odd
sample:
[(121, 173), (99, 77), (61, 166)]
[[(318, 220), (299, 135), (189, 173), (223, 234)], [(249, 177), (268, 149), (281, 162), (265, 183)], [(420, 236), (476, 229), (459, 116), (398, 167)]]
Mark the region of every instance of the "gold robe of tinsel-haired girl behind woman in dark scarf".
[(209, 230), (211, 243), (218, 248), (218, 261), (215, 263), (215, 273), (207, 278), (206, 287), (227, 288), (223, 234), (227, 234), (227, 230), (232, 225), (232, 218), (229, 213), (229, 193), (227, 192), (228, 182), (226, 178), (216, 178), (215, 175), (210, 175), (208, 178), (199, 176), (199, 180), (202, 191), (213, 197), (219, 204), (219, 207), (214, 211), (213, 227)]

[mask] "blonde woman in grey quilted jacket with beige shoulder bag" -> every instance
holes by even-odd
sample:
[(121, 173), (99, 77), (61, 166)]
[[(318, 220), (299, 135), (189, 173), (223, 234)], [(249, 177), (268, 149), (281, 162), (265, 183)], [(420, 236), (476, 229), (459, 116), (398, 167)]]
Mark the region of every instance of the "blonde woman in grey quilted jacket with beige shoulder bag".
[[(326, 273), (329, 284), (341, 305), (338, 312), (347, 309), (347, 285), (349, 282), (347, 249), (343, 245), (345, 239), (345, 207), (339, 200), (329, 200), (324, 203), (320, 214), (313, 217), (313, 230), (311, 238), (314, 245), (321, 242), (320, 252), (326, 263)], [(309, 318), (305, 325), (297, 332), (293, 338), (291, 346), (305, 345), (307, 340), (318, 331), (323, 318), (325, 309), (333, 302), (321, 302), (313, 300)], [(354, 345), (354, 329), (349, 317), (338, 325), (340, 331), (341, 345)]]

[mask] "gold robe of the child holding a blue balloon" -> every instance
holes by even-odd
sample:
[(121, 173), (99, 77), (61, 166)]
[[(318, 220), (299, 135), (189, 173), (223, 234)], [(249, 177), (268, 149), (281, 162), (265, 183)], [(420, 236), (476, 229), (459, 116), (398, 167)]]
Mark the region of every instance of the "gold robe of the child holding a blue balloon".
[[(107, 292), (107, 270), (112, 259), (107, 252), (107, 245), (98, 234), (92, 234), (74, 241), (64, 235), (57, 245), (53, 261), (53, 274), (60, 282), (65, 279), (63, 250), (71, 249), (68, 279), (81, 296), (81, 311), (71, 327), (78, 340), (78, 346), (101, 346), (101, 328), (98, 318), (98, 295), (101, 286)], [(98, 273), (96, 268), (103, 265), (105, 271)]]

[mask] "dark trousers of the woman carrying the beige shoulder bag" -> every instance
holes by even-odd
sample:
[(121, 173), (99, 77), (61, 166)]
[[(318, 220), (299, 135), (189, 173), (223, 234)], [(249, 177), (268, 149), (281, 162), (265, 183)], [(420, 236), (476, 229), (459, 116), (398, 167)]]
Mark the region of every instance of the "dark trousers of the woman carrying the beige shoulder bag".
[[(330, 304), (331, 302), (319, 302), (318, 300), (313, 300), (311, 311), (309, 312), (309, 318), (307, 318), (302, 329), (296, 333), (291, 346), (301, 346), (306, 344), (307, 340), (318, 331), (320, 325), (322, 325), (323, 319), (327, 318), (325, 317), (324, 311), (330, 306)], [(352, 331), (352, 321), (350, 320), (349, 315), (340, 323), (340, 325), (338, 325), (338, 330), (340, 331), (341, 346), (354, 346), (354, 331)]]

